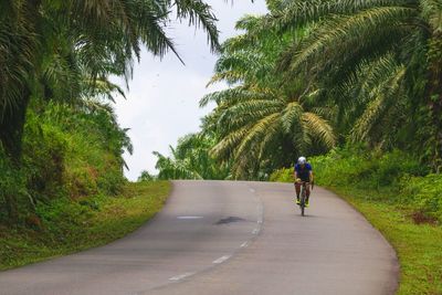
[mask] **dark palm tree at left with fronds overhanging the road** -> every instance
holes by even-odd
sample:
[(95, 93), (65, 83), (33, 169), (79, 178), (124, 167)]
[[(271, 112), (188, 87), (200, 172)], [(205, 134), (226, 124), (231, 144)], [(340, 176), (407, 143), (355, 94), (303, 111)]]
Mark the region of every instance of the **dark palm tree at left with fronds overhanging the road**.
[(177, 54), (165, 33), (172, 8), (218, 49), (215, 18), (201, 0), (1, 0), (0, 143), (7, 152), (20, 158), (31, 97), (77, 99), (80, 76), (92, 87), (110, 74), (130, 78), (141, 45), (159, 56)]

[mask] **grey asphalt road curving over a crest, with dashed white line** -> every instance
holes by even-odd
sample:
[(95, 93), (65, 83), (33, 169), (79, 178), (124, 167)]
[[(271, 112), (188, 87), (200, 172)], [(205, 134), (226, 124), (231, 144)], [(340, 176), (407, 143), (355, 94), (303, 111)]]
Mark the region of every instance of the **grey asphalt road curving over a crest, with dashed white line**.
[(394, 251), (361, 214), (315, 188), (173, 181), (164, 210), (103, 247), (0, 272), (0, 294), (393, 294)]

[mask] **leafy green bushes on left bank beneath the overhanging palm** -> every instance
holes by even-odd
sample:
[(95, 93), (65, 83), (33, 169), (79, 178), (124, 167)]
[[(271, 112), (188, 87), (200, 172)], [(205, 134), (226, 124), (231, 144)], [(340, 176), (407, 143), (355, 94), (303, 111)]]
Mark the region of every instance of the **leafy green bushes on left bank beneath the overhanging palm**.
[(28, 112), (21, 165), (0, 152), (0, 223), (24, 224), (30, 217), (41, 218), (35, 211), (41, 203), (115, 196), (126, 183), (123, 152), (131, 145), (112, 108), (43, 106)]

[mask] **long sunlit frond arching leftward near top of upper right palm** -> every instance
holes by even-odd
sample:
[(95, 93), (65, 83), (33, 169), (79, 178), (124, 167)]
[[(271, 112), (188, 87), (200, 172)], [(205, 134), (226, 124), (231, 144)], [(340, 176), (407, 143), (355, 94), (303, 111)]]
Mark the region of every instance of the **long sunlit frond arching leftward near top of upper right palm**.
[[(303, 65), (313, 60), (318, 66), (317, 63), (349, 59), (350, 56), (347, 55), (358, 52), (358, 49), (373, 48), (377, 40), (380, 40), (380, 35), (387, 38), (407, 33), (408, 29), (402, 27), (402, 23), (412, 15), (415, 15), (415, 10), (411, 8), (380, 7), (351, 15), (333, 17), (320, 23), (301, 45), (295, 46), (296, 54), (292, 55), (290, 69), (292, 71), (302, 70)], [(383, 33), (388, 33), (388, 35), (382, 35)], [(287, 54), (292, 52), (293, 49)], [(343, 54), (343, 52), (347, 54)]]

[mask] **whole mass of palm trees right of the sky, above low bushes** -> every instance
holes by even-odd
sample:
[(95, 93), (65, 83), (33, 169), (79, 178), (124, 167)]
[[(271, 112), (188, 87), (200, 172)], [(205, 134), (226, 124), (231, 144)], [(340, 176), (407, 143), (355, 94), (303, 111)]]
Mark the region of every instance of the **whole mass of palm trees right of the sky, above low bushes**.
[[(202, 134), (232, 178), (257, 179), (334, 147), (398, 149), (441, 168), (438, 1), (267, 1), (227, 40), (209, 84), (229, 87)], [(438, 45), (439, 44), (439, 45)]]

